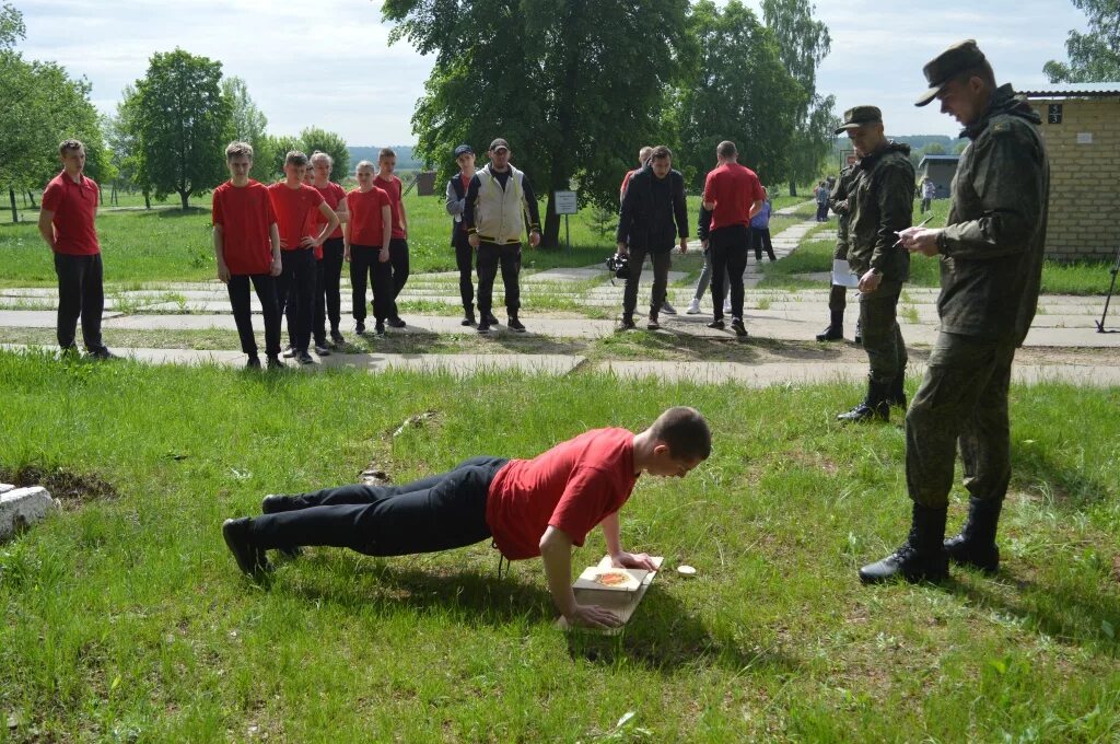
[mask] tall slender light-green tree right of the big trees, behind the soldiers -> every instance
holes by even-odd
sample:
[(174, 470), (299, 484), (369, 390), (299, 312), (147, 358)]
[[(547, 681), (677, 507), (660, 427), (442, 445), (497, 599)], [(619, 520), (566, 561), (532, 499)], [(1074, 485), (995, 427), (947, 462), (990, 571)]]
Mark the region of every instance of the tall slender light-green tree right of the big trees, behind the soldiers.
[(810, 0), (763, 0), (763, 18), (777, 38), (782, 63), (801, 84), (805, 105), (799, 112), (790, 164), (790, 195), (797, 182), (815, 178), (832, 150), (836, 99), (816, 93), (816, 68), (832, 46), (828, 27), (813, 17)]

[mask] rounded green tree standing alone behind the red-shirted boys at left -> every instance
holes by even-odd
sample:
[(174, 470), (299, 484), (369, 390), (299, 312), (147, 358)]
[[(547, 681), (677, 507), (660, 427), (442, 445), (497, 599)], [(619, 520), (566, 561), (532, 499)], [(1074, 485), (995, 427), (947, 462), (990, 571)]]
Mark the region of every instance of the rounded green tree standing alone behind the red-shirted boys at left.
[(222, 63), (183, 49), (152, 55), (136, 83), (137, 130), (156, 197), (178, 194), (183, 208), (225, 179), (223, 152), (232, 115)]

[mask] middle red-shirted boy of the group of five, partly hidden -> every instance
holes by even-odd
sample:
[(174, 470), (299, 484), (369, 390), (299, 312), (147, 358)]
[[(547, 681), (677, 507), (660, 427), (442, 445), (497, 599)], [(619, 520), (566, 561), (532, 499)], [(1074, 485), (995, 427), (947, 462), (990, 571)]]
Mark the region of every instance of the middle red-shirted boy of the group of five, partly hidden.
[[(323, 196), (327, 206), (338, 215), (338, 222), (345, 224), (346, 189), (330, 180), (330, 170), (334, 165), (334, 160), (326, 152), (312, 152), (311, 169), (315, 171), (315, 179), (311, 185)], [(316, 224), (321, 227), (326, 220), (319, 213), (315, 217)], [(330, 319), (330, 343), (337, 347), (346, 342), (338, 329), (338, 322), (342, 319), (340, 279), (344, 252), (343, 229), (339, 224), (320, 247), (319, 262), (316, 264), (315, 320), (311, 325), (311, 333), (315, 336), (315, 351), (320, 356), (324, 353), (330, 353), (327, 344), (327, 318)]]

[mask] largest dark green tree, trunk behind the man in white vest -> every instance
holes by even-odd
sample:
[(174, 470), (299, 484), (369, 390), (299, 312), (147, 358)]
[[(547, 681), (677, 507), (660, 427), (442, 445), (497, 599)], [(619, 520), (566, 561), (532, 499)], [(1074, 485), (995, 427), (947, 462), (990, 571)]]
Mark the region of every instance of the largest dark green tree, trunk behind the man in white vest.
[(617, 204), (642, 145), (664, 134), (663, 111), (682, 58), (693, 54), (688, 0), (386, 0), (391, 39), (407, 37), (436, 65), (417, 104), (417, 152), (452, 169), (459, 142), (504, 137), (514, 164), (548, 194), (542, 244), (559, 242), (553, 192)]

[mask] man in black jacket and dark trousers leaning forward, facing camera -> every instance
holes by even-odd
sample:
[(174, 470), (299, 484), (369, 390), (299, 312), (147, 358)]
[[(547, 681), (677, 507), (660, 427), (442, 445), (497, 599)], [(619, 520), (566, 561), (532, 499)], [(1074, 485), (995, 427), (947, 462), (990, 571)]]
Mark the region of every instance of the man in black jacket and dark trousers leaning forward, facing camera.
[(634, 327), (637, 287), (642, 279), (645, 257), (653, 261), (653, 294), (650, 299), (647, 328), (656, 331), (657, 310), (665, 300), (669, 283), (670, 251), (680, 238), (681, 253), (689, 247), (689, 215), (684, 204), (684, 177), (673, 170), (673, 154), (665, 147), (654, 148), (650, 161), (629, 179), (623, 197), (616, 240), (618, 252), (631, 257), (629, 275), (623, 294), (620, 331)]

